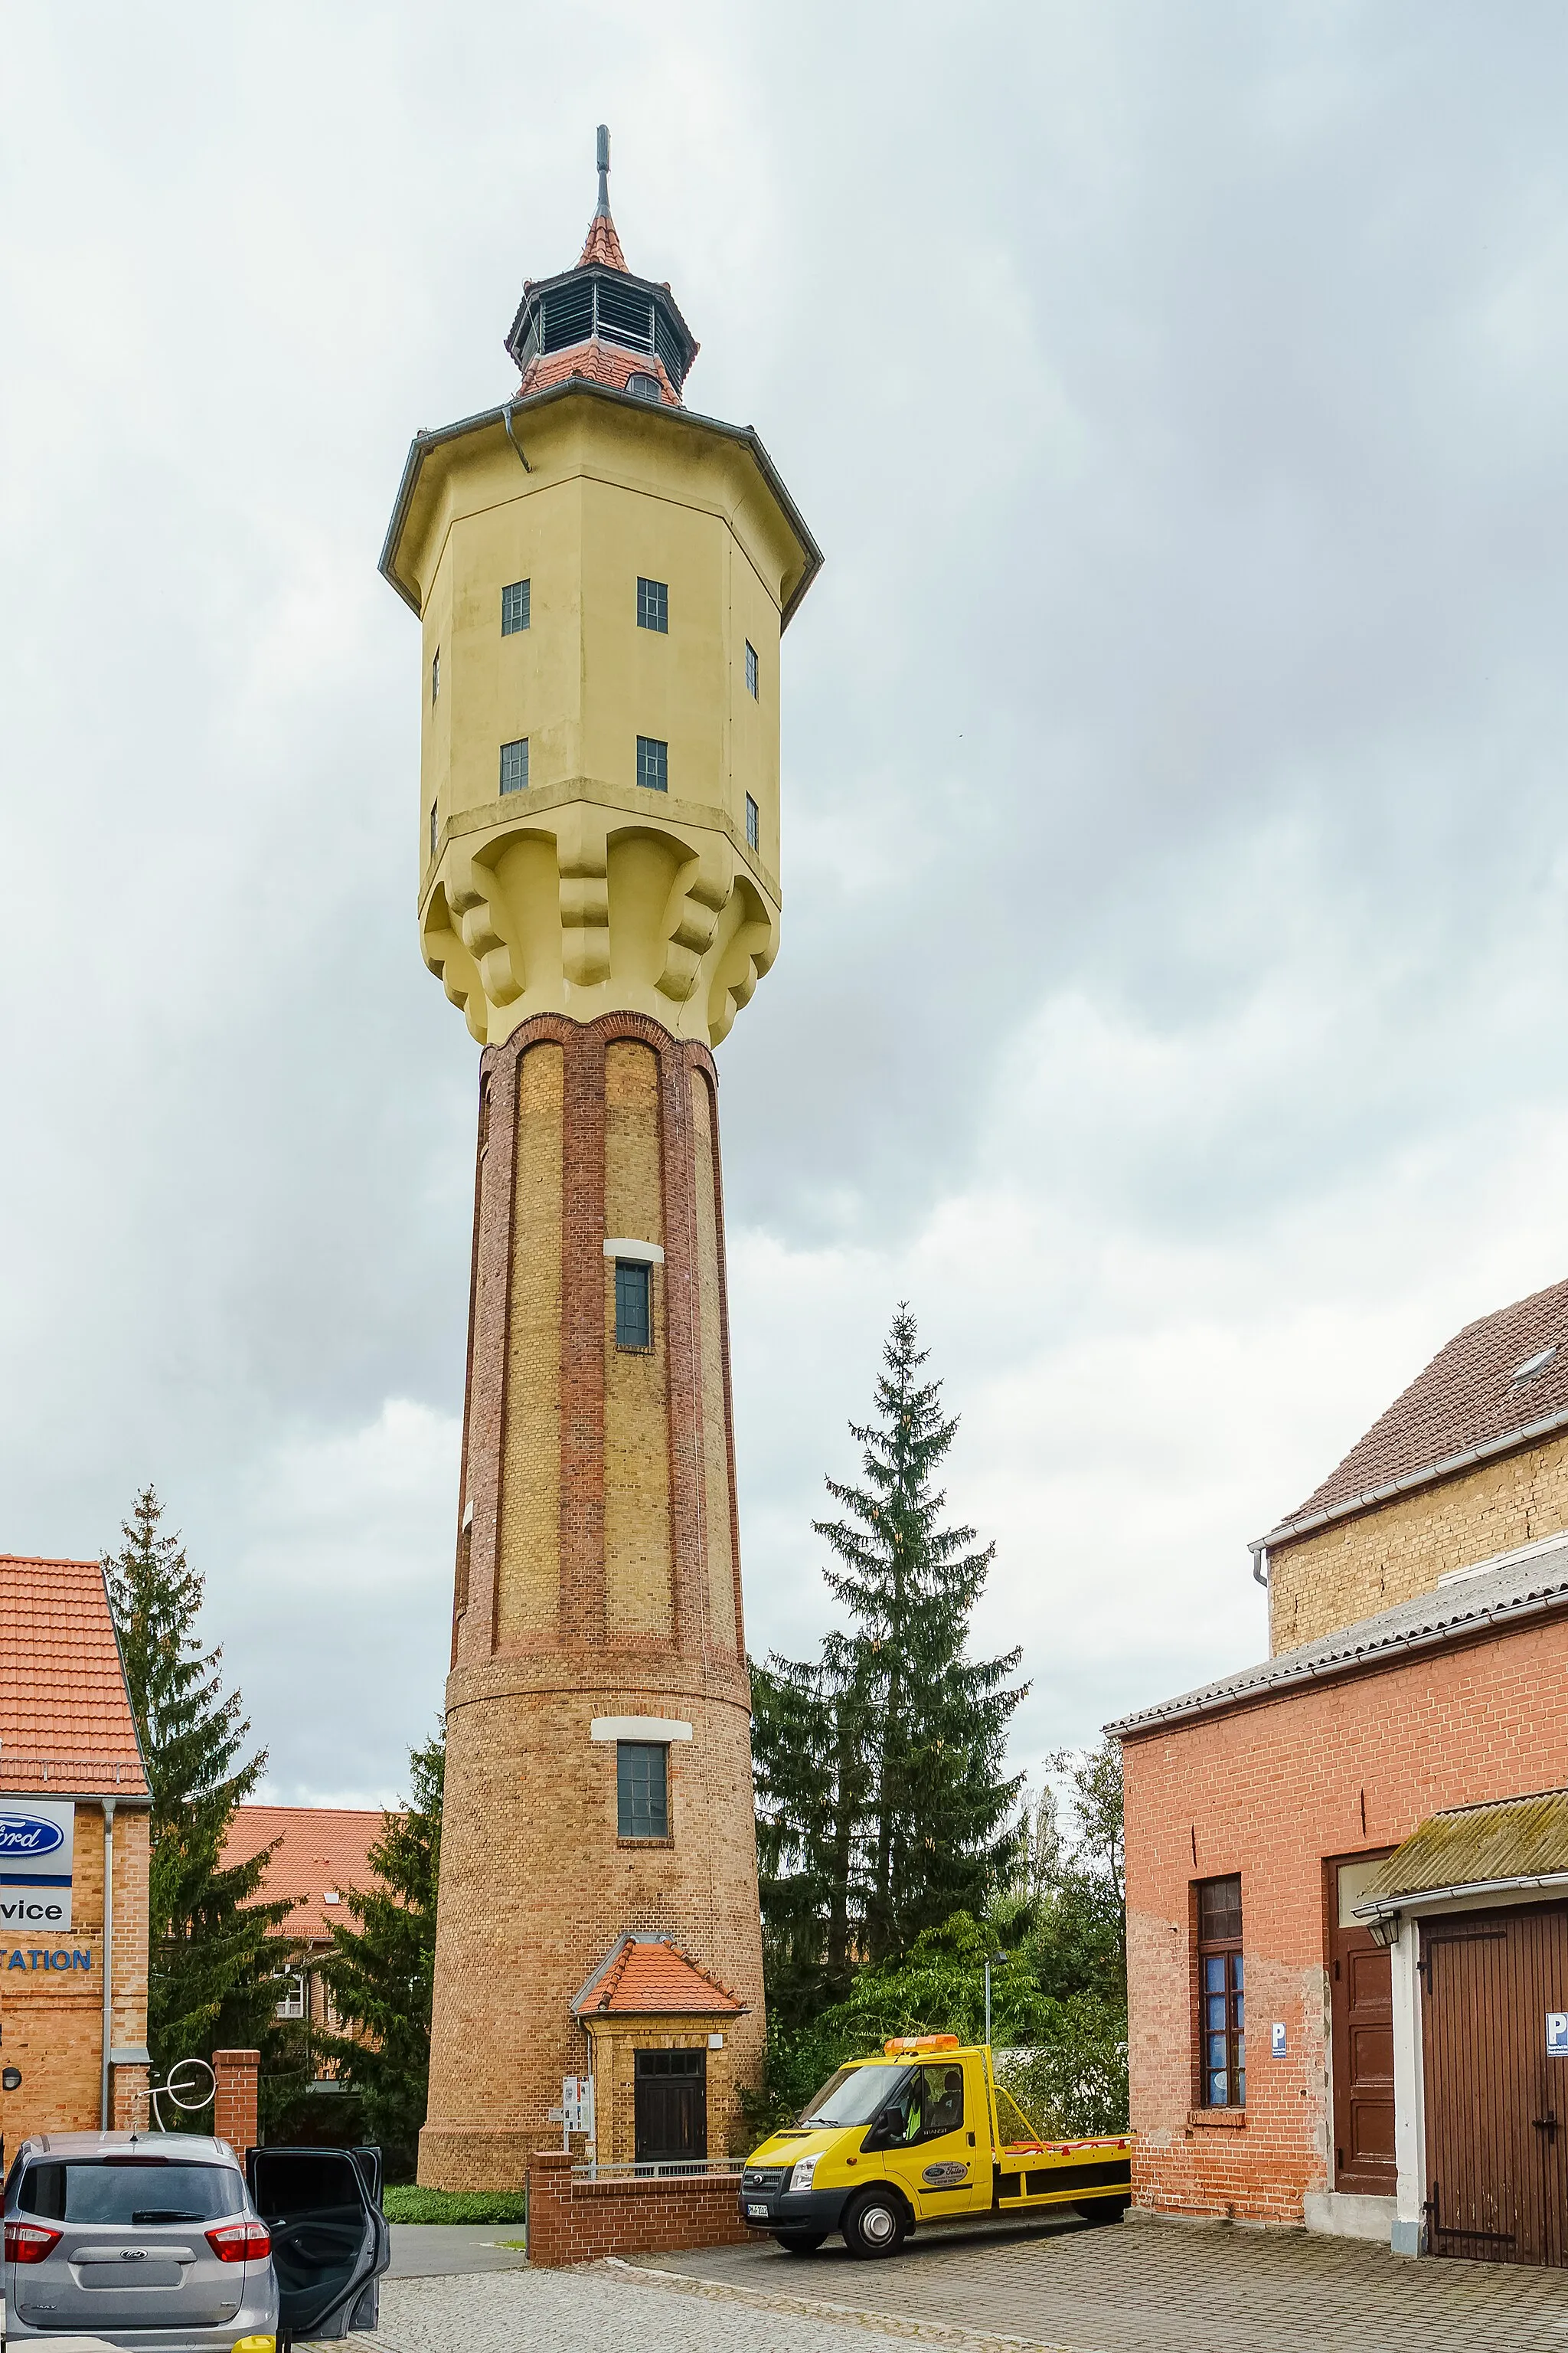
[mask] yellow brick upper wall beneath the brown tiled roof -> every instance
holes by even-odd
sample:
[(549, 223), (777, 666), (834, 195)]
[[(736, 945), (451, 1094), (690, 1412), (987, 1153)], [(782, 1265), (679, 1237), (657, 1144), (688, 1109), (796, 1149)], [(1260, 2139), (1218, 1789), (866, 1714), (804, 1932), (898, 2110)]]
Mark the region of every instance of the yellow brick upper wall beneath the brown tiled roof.
[(1458, 1478), (1333, 1520), (1269, 1553), (1269, 1647), (1432, 1593), (1448, 1569), (1512, 1553), (1568, 1527), (1568, 1435), (1476, 1464)]

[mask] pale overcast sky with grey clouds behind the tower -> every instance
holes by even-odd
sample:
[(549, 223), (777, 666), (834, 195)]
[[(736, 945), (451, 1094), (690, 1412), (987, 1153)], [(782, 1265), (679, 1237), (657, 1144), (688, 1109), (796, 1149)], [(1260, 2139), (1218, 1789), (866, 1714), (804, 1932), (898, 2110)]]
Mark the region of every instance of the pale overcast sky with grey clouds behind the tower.
[(722, 1049), (750, 1640), (907, 1297), (1018, 1765), (1267, 1649), (1246, 1539), (1568, 1273), (1568, 16), (9, 0), (0, 1548), (155, 1480), (277, 1798), (447, 1664), (477, 1049), (416, 426), (614, 129), (827, 553)]

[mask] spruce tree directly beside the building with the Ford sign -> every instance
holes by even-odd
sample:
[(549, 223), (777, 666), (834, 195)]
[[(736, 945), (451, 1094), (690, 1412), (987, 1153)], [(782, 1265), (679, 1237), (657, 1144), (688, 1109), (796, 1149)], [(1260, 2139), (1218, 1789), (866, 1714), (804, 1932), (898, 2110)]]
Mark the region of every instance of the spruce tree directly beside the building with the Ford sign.
[(160, 1529), (162, 1504), (143, 1487), (125, 1539), (103, 1558), (125, 1680), (153, 1791), (148, 1885), (148, 2049), (155, 2073), (209, 2059), (226, 2045), (270, 2052), (277, 1972), (289, 1946), (273, 1929), (292, 1904), (256, 1901), (270, 1847), (223, 1864), (235, 1809), (266, 1769), (266, 1748), (242, 1758), (249, 1722), (223, 1692), (219, 1647), (202, 1649), (205, 1581), (179, 1537)]

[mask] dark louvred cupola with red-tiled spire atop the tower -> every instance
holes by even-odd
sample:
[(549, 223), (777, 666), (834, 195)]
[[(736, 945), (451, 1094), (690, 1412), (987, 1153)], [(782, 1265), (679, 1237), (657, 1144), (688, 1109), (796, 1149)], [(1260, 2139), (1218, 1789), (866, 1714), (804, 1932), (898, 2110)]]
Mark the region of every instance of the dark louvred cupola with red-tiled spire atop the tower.
[(642, 400), (682, 405), (698, 341), (668, 285), (632, 278), (609, 214), (609, 129), (599, 122), (599, 202), (571, 271), (529, 280), (505, 348), (522, 369), (517, 398), (588, 376)]

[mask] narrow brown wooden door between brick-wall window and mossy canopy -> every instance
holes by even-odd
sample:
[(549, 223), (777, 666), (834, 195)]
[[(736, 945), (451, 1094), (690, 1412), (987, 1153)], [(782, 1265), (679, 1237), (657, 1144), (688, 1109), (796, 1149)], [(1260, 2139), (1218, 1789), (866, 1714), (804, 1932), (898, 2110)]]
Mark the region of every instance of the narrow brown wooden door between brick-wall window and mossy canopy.
[(1394, 1981), (1387, 1951), (1352, 1911), (1382, 1854), (1328, 1864), (1333, 2186), (1363, 2198), (1392, 2198), (1396, 2186)]

